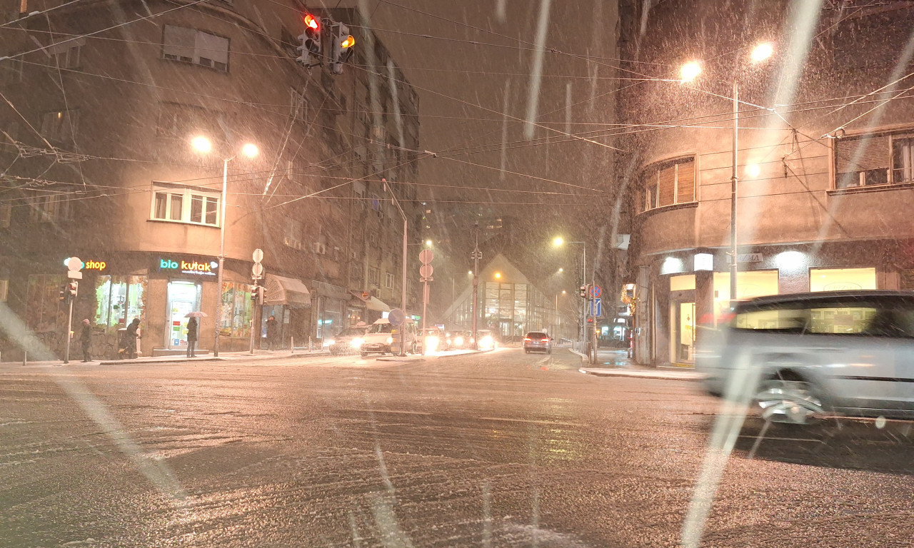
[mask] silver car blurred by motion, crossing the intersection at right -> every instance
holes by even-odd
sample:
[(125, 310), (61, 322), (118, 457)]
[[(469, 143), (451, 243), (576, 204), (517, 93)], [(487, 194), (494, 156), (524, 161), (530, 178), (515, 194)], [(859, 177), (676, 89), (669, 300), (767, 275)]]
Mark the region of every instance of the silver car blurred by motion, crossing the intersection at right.
[(772, 422), (816, 416), (914, 418), (914, 291), (760, 297), (699, 341), (708, 393)]

